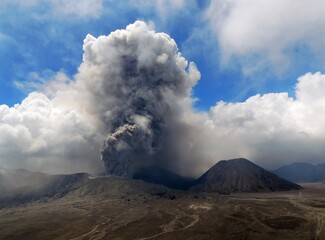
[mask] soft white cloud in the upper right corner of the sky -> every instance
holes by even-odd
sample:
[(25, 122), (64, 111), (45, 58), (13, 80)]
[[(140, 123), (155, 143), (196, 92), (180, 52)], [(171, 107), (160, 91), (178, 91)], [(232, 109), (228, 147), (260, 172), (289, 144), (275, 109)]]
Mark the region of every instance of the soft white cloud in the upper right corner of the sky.
[(294, 48), (324, 59), (324, 10), (322, 0), (212, 0), (207, 18), (224, 63), (236, 57), (253, 74), (265, 65), (286, 70)]

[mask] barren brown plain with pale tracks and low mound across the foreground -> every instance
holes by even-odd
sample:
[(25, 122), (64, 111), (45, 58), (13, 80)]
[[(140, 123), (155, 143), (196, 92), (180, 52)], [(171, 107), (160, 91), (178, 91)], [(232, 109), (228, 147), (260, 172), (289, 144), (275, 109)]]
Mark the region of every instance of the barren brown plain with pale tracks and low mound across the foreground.
[(325, 184), (218, 195), (87, 178), (64, 196), (2, 207), (0, 238), (325, 239)]

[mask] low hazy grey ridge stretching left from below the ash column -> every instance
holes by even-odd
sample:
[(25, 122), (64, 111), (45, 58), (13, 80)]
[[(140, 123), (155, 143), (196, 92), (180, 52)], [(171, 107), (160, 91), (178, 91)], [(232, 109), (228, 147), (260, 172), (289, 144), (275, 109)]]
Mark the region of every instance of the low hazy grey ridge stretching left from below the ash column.
[(26, 170), (0, 171), (0, 208), (34, 201), (68, 198), (95, 197), (128, 198), (148, 195), (149, 197), (172, 197), (169, 188), (120, 177), (94, 177), (87, 173), (49, 175)]

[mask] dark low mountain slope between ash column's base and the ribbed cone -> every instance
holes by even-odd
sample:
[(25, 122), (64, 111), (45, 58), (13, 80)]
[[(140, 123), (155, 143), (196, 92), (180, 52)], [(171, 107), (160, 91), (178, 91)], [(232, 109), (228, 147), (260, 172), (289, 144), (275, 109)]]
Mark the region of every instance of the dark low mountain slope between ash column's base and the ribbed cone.
[(194, 182), (194, 179), (182, 177), (158, 166), (142, 168), (133, 175), (133, 178), (182, 190), (187, 190)]

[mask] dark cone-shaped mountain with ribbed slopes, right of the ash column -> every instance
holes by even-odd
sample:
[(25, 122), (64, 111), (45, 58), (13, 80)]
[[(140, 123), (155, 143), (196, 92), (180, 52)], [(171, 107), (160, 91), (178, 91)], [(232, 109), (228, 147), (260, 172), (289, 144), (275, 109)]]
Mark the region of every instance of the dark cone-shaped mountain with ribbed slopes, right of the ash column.
[(218, 162), (191, 190), (202, 192), (269, 192), (298, 190), (301, 186), (284, 180), (244, 158)]

